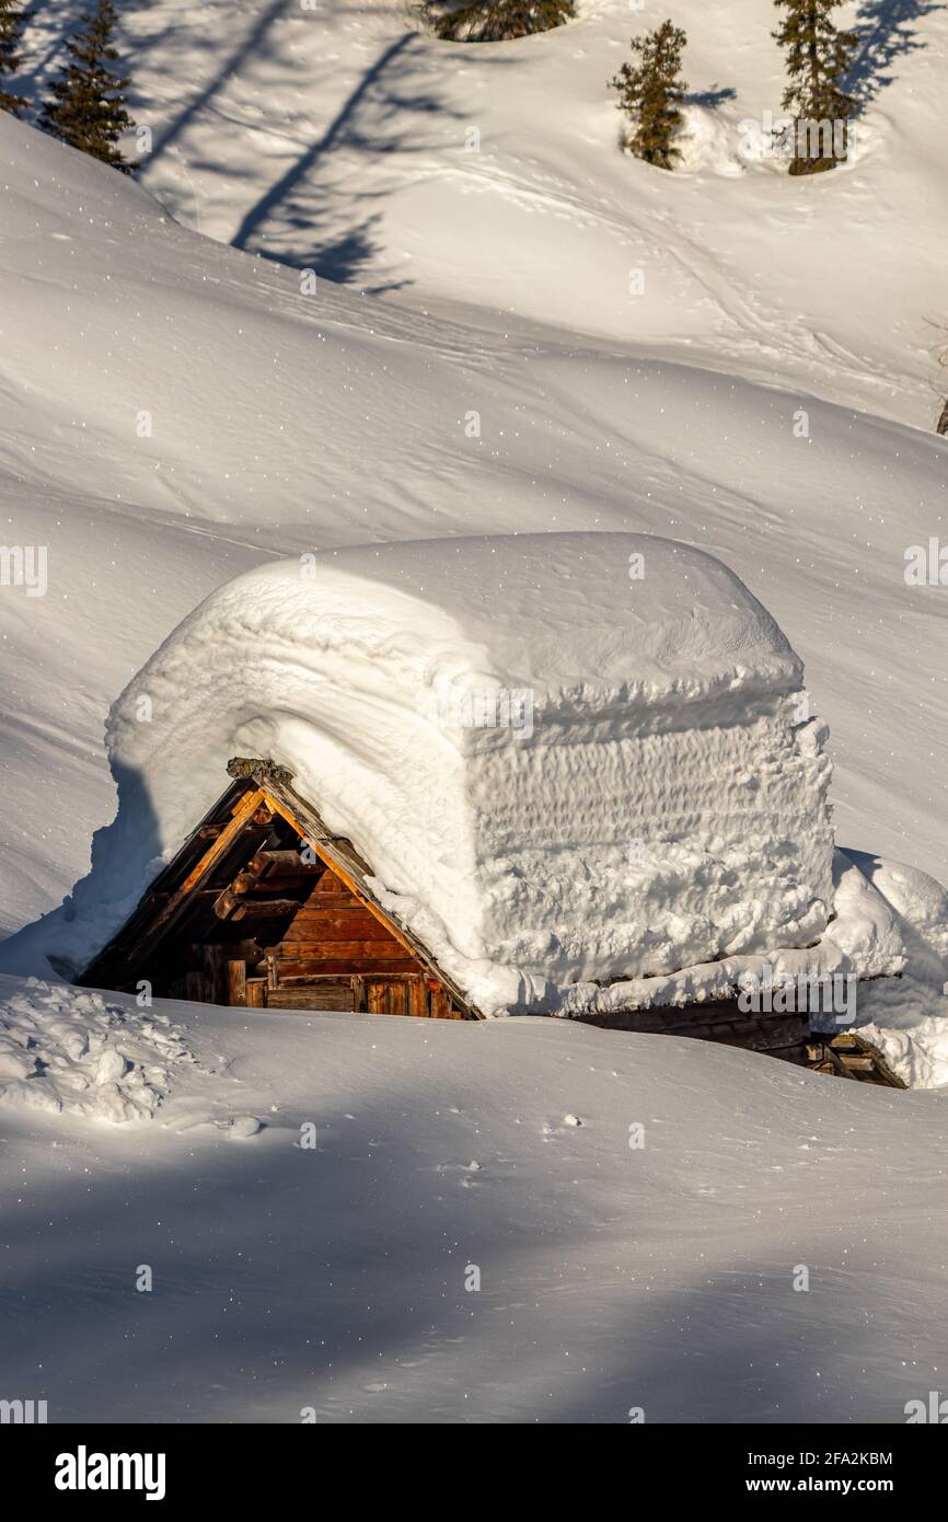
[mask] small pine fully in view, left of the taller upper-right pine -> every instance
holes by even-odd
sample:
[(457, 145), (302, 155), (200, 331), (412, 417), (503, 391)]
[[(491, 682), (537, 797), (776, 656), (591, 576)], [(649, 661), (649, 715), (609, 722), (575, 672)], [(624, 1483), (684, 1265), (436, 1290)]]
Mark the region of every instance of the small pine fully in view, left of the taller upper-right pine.
[(674, 169), (682, 157), (674, 137), (685, 120), (682, 105), (688, 85), (682, 79), (682, 53), (688, 37), (680, 26), (662, 21), (647, 37), (633, 37), (638, 64), (622, 64), (609, 84), (619, 91), (619, 111), (635, 120), (628, 142), (636, 158), (659, 169)]

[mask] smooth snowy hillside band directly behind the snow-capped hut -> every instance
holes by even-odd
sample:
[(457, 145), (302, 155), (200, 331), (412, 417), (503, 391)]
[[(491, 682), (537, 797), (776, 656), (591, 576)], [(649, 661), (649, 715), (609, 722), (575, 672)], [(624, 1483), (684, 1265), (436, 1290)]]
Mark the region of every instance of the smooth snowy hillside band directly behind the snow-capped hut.
[(805, 661), (838, 840), (948, 877), (945, 604), (904, 578), (943, 524), (939, 438), (630, 344), (306, 295), (8, 117), (0, 146), (0, 499), (49, 568), (0, 598), (8, 928), (82, 875), (108, 705), (202, 595), (275, 554), (511, 528), (720, 556)]

